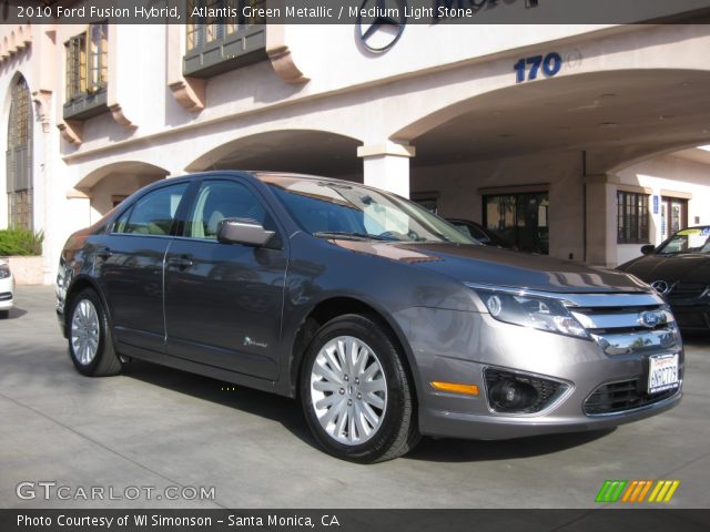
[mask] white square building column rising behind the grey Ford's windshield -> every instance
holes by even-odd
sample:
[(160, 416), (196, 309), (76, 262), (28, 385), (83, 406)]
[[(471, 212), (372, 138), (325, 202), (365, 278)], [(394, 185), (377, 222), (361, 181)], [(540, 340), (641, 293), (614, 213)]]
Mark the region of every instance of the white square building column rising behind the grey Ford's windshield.
[(414, 146), (390, 141), (359, 146), (357, 156), (363, 158), (364, 183), (409, 197), (409, 158), (415, 153)]

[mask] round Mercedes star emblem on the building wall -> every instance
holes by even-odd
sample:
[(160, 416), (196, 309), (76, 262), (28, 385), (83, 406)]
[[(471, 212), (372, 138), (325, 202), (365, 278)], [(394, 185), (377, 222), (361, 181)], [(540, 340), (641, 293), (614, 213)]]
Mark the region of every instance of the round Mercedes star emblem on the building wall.
[(357, 16), (363, 45), (375, 53), (394, 47), (407, 23), (406, 7), (406, 0), (365, 0)]

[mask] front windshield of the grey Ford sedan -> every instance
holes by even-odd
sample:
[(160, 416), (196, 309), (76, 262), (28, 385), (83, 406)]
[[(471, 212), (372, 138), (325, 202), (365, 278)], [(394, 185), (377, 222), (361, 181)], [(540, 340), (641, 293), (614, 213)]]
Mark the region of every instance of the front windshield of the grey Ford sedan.
[(424, 207), (356, 183), (261, 175), (296, 223), (321, 238), (478, 244)]

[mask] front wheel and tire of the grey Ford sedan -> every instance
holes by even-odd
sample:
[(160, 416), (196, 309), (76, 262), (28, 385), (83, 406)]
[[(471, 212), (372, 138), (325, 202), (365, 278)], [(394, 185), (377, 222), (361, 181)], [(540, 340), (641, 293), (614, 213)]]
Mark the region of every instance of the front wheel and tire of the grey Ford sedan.
[(318, 329), (300, 391), (311, 431), (337, 458), (382, 462), (419, 440), (404, 355), (372, 317), (341, 316)]

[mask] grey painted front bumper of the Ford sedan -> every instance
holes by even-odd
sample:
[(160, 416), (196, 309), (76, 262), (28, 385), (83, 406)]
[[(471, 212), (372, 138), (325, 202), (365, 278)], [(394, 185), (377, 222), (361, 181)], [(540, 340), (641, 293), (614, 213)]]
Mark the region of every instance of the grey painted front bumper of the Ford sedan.
[[(600, 430), (663, 412), (682, 397), (680, 345), (667, 349), (679, 357), (678, 389), (590, 415), (585, 409), (595, 391), (619, 382), (643, 383), (648, 359), (659, 352), (609, 356), (597, 341), (504, 324), (485, 313), (410, 308), (397, 316), (397, 323), (415, 359), (419, 430), (425, 434), (498, 440)], [(561, 382), (564, 392), (535, 413), (500, 413), (488, 398), (487, 368)], [(439, 391), (433, 381), (475, 385), (479, 393)]]

